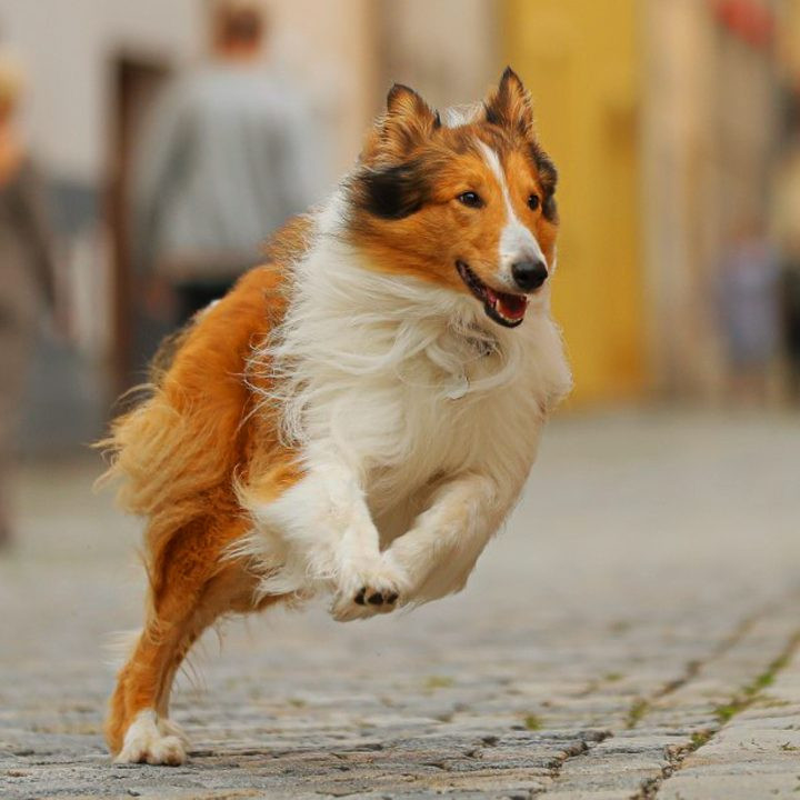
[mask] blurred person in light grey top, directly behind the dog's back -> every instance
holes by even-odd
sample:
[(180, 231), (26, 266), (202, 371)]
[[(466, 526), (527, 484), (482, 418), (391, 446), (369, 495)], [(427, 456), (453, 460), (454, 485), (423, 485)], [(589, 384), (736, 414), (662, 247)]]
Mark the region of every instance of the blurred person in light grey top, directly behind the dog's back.
[(150, 310), (163, 316), (171, 298), (179, 322), (224, 294), (312, 199), (312, 127), (298, 93), (262, 69), (260, 6), (218, 0), (211, 28), (210, 61), (168, 88), (133, 169), (134, 268)]

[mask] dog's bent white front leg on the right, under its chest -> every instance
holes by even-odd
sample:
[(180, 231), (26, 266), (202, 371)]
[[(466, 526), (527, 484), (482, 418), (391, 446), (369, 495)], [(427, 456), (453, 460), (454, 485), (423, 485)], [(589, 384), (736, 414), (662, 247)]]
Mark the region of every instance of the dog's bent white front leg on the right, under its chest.
[(496, 481), (476, 473), (442, 486), (411, 530), (384, 553), (408, 579), (401, 604), (460, 591), (517, 494), (517, 489), (502, 491)]

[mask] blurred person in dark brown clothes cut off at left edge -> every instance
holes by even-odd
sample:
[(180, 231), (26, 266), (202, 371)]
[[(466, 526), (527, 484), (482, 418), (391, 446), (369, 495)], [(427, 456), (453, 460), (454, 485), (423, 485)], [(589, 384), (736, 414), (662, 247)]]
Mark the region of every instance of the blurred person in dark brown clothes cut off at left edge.
[(17, 60), (0, 53), (0, 548), (11, 541), (12, 421), (42, 307), (54, 299), (43, 191), (14, 122), (23, 86)]

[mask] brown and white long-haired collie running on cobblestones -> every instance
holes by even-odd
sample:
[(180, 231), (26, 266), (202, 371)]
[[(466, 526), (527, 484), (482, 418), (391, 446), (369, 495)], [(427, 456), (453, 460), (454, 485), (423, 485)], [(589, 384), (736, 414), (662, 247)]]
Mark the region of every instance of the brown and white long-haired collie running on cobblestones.
[(556, 182), (511, 69), (441, 116), (396, 84), (332, 197), (161, 347), (101, 442), (147, 519), (117, 762), (186, 760), (170, 688), (220, 617), (328, 593), (347, 621), (463, 588), (571, 386)]

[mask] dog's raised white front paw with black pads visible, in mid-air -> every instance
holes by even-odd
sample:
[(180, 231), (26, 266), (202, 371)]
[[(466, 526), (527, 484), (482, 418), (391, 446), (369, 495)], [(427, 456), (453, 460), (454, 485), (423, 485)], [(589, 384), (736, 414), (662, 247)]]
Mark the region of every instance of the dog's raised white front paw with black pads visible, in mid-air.
[(331, 614), (339, 622), (389, 613), (402, 604), (406, 580), (386, 559), (377, 563), (343, 571), (333, 597)]

